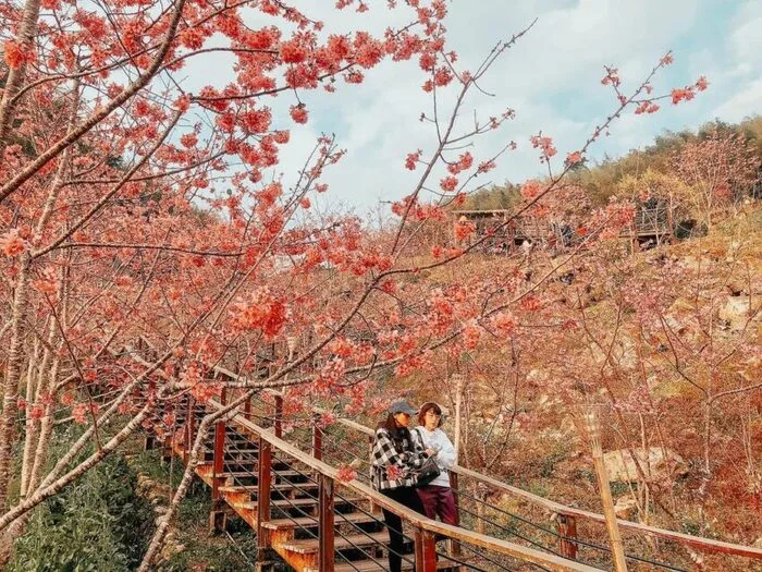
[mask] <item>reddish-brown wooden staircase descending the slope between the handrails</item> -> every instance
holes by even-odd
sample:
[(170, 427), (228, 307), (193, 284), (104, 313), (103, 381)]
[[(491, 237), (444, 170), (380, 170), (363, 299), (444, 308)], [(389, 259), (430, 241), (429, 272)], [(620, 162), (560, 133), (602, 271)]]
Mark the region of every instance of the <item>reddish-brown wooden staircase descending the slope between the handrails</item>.
[[(199, 405), (187, 411), (190, 413), (176, 418), (182, 429), (175, 431), (174, 439), (160, 428), (153, 429), (167, 454), (184, 462), (188, 460), (186, 445), (193, 442), (193, 427), (208, 412)], [(153, 418), (157, 425), (160, 416), (157, 413)], [(187, 418), (192, 422), (186, 423)], [(261, 431), (246, 419), (234, 417), (206, 436), (195, 472), (212, 490), (210, 526), (223, 528), (228, 518), (237, 514), (257, 531), (261, 551), (274, 551), (299, 572), (388, 570), (389, 533), (380, 508), (367, 496), (337, 485), (330, 501), (332, 514), (321, 515), (324, 478), (310, 463), (273, 451), (262, 440)], [(321, 555), (327, 555), (327, 535), (321, 533), (325, 520), (332, 521), (329, 568), (321, 565)], [(403, 570), (415, 568), (414, 545), (410, 540), (406, 546)], [(434, 560), (435, 570), (460, 568), (444, 556)]]

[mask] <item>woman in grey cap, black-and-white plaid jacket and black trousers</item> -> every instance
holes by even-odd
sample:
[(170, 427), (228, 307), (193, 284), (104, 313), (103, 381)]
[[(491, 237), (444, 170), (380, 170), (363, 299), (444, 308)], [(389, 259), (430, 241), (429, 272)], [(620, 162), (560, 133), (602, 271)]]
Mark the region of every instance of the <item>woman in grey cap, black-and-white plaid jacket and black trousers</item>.
[[(416, 413), (418, 411), (405, 401), (396, 401), (389, 407), (386, 421), (376, 429), (371, 478), (373, 488), (425, 514), (415, 488), (415, 471), (435, 452), (422, 449), (410, 436), (410, 416)], [(400, 572), (405, 541), (402, 519), (386, 509), (383, 509), (383, 519), (389, 530), (389, 569), (391, 572)]]

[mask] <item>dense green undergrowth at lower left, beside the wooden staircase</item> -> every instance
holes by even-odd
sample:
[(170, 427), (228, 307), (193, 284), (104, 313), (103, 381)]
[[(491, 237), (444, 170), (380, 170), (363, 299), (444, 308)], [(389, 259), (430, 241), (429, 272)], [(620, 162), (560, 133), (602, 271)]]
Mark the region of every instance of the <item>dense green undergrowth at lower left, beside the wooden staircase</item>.
[[(76, 427), (74, 427), (75, 429)], [(76, 431), (62, 431), (63, 451)], [(15, 545), (9, 572), (127, 572), (136, 570), (153, 533), (152, 503), (167, 499), (139, 494), (138, 477), (172, 490), (182, 470), (160, 459), (158, 451), (138, 451), (135, 441), (121, 454), (109, 455), (84, 478), (44, 502)], [(151, 502), (151, 500), (153, 502)], [(256, 560), (253, 531), (236, 519), (226, 533), (208, 531), (209, 489), (197, 483), (181, 503), (173, 534), (181, 550), (156, 570), (164, 572), (249, 570)]]

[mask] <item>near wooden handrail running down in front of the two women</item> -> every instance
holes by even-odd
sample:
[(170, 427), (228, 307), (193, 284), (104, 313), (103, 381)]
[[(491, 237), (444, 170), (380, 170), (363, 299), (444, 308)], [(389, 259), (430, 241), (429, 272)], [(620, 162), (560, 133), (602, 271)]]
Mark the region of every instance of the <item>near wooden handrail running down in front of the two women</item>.
[[(209, 400), (207, 401), (207, 404), (218, 410), (223, 407), (223, 405), (216, 400)], [(259, 436), (262, 440), (269, 442), (275, 449), (283, 451), (290, 457), (306, 464), (314, 471), (317, 471), (318, 473), (324, 476), (337, 480), (345, 487), (353, 489), (355, 492), (358, 492), (364, 497), (369, 498), (374, 504), (390, 510), (395, 514), (402, 516), (405, 520), (405, 522), (409, 523), (410, 525), (417, 528), (430, 532), (432, 534), (442, 534), (451, 538), (456, 538), (462, 543), (478, 546), (480, 548), (500, 552), (513, 558), (519, 558), (527, 562), (533, 562), (537, 564), (550, 567), (552, 570), (556, 571), (600, 572), (600, 569), (592, 568), (580, 562), (575, 562), (574, 560), (560, 558), (557, 556), (543, 552), (541, 550), (536, 550), (533, 548), (527, 548), (514, 543), (509, 543), (507, 540), (503, 540), (501, 538), (493, 538), (484, 534), (466, 531), (465, 528), (460, 528), (459, 526), (453, 526), (438, 521), (432, 521), (431, 519), (428, 519), (422, 514), (419, 514), (418, 512), (408, 509), (404, 504), (392, 500), (385, 495), (382, 495), (381, 492), (369, 487), (368, 485), (365, 485), (357, 480), (351, 480), (348, 483), (341, 480), (339, 478), (339, 471), (336, 468), (305, 453), (304, 451), (302, 451), (302, 449), (293, 446), (292, 443), (284, 441), (279, 437), (275, 437), (275, 434), (271, 429), (260, 427), (244, 418), (239, 414), (236, 414), (234, 417), (232, 417), (232, 421), (243, 427), (246, 427), (247, 429)]]

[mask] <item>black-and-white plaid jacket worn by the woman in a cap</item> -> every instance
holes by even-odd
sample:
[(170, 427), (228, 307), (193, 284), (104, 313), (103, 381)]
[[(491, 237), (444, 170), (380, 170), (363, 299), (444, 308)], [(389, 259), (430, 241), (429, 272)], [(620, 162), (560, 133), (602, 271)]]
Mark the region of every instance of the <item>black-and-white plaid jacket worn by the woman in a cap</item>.
[[(395, 443), (388, 429), (376, 429), (373, 439), (373, 462), (371, 482), (377, 490), (388, 490), (416, 485), (415, 470), (420, 468), (426, 461), (426, 453), (417, 440), (410, 438), (409, 431), (403, 433), (402, 439)], [(400, 478), (390, 478), (386, 468), (394, 466), (400, 472)]]

